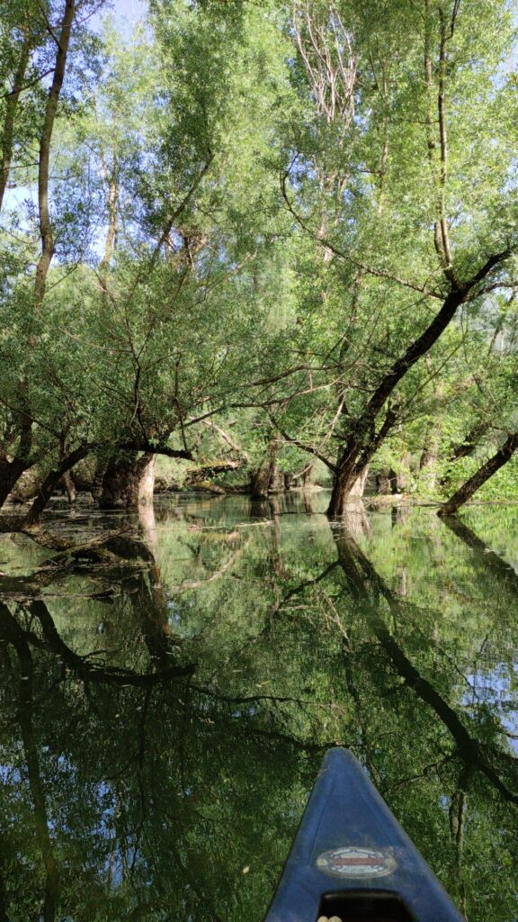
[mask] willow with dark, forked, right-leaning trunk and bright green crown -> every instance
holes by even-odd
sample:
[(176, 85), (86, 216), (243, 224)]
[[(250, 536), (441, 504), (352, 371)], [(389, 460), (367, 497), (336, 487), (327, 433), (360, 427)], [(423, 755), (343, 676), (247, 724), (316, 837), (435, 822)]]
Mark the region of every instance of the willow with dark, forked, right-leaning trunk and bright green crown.
[[(282, 187), (308, 239), (300, 313), (320, 364), (320, 435), (308, 426), (305, 446), (333, 473), (331, 516), (426, 384), (419, 360), (441, 349), (459, 309), (469, 323), (489, 290), (515, 278), (507, 6), (423, 0), (384, 14), (295, 7), (293, 74), (306, 110), (287, 138)], [(347, 41), (336, 41), (338, 22)], [(318, 72), (314, 41), (328, 49)], [(322, 100), (346, 65), (350, 102), (330, 120)], [(281, 422), (304, 444), (289, 414)]]

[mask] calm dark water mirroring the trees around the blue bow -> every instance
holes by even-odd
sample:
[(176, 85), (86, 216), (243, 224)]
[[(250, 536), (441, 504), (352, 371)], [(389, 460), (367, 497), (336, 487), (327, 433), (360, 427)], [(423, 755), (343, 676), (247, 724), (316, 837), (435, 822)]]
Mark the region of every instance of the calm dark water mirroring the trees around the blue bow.
[(336, 742), (470, 922), (518, 919), (518, 511), (315, 494), (0, 538), (0, 922), (260, 922)]

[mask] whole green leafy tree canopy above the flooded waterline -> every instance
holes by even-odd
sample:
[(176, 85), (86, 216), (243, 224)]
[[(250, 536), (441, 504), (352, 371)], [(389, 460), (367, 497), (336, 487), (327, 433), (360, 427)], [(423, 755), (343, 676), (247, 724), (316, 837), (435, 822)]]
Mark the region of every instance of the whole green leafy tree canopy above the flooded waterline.
[(512, 458), (509, 3), (4, 6), (2, 502), (163, 454), (453, 512)]

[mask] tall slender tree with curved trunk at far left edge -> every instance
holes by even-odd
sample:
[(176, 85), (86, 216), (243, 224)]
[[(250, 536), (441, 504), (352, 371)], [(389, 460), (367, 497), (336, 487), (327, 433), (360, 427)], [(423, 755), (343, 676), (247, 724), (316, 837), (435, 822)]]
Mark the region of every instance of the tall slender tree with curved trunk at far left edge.
[[(0, 310), (5, 328), (0, 349), (5, 374), (0, 393), (0, 504), (23, 472), (45, 459), (38, 430), (53, 432), (54, 462), (57, 455), (58, 465), (63, 464), (66, 454), (59, 421), (39, 418), (38, 396), (45, 377), (38, 378), (35, 366), (45, 338), (49, 274), (56, 254), (59, 258), (63, 253), (65, 216), (53, 208), (53, 141), (61, 116), (77, 108), (75, 93), (92, 52), (85, 20), (93, 6), (90, 0), (66, 0), (45, 9), (20, 2), (10, 6), (3, 21), (2, 40), (10, 44), (11, 53), (3, 74), (8, 89), (2, 142), (5, 275)], [(21, 202), (19, 191), (13, 199), (5, 195), (6, 187), (21, 190)]]

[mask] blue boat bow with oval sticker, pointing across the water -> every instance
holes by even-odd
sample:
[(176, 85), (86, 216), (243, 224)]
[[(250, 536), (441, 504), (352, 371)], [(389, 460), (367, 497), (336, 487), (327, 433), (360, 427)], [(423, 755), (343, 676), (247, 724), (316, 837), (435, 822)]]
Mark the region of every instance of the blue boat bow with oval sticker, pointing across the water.
[(345, 749), (329, 750), (265, 922), (463, 922)]

